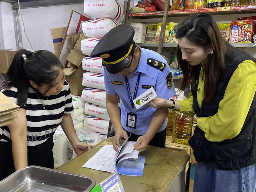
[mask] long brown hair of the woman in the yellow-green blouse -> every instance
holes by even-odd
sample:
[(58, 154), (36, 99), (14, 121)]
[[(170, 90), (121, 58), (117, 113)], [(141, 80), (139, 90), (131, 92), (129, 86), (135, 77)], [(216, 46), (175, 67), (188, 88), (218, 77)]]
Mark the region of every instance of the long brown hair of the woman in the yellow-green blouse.
[[(218, 86), (218, 81), (224, 73), (225, 56), (228, 43), (222, 37), (219, 28), (211, 15), (195, 13), (189, 15), (175, 28), (176, 38), (185, 37), (192, 45), (203, 47), (207, 51), (210, 46), (214, 54), (208, 55), (208, 62), (204, 65), (204, 100), (211, 101)], [(201, 65), (192, 66), (182, 60), (180, 47), (177, 48), (177, 60), (183, 80), (180, 89), (184, 90), (189, 82), (192, 88), (200, 72)]]

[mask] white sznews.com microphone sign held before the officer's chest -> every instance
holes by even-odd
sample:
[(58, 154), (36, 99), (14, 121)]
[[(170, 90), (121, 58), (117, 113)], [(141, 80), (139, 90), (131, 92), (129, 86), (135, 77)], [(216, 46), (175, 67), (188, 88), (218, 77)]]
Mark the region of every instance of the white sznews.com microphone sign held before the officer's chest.
[(143, 94), (141, 94), (139, 97), (135, 98), (133, 100), (133, 103), (136, 107), (136, 109), (141, 108), (143, 105), (146, 105), (148, 102), (150, 102), (152, 99), (156, 98), (157, 94), (155, 93), (155, 90), (153, 87), (145, 91)]

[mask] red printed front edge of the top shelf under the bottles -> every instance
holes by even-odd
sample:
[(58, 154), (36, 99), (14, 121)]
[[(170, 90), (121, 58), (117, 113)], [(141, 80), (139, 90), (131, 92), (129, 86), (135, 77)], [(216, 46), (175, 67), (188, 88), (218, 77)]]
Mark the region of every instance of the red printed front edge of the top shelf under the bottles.
[[(180, 17), (188, 16), (196, 12), (207, 12), (211, 15), (230, 15), (230, 14), (244, 14), (244, 13), (256, 13), (256, 5), (246, 5), (238, 7), (217, 7), (217, 8), (205, 8), (200, 10), (176, 10), (168, 11), (168, 17)], [(131, 17), (128, 19), (128, 23), (134, 22), (161, 22), (163, 11), (146, 12), (129, 14)]]

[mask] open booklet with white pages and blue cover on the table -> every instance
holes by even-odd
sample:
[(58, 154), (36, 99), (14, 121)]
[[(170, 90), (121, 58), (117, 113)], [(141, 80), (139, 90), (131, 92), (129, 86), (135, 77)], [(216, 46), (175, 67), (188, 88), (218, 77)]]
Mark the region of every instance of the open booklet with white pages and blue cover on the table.
[(146, 157), (139, 156), (139, 151), (134, 150), (136, 142), (124, 141), (118, 148), (119, 153), (113, 149), (112, 145), (103, 146), (93, 157), (91, 157), (83, 167), (122, 175), (142, 176)]

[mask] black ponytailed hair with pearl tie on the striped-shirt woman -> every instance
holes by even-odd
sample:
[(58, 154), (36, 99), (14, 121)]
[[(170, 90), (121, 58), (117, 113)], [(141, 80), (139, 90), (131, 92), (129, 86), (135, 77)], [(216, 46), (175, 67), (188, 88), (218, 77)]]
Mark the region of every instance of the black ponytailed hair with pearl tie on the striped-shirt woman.
[[(25, 54), (26, 60), (23, 59), (23, 54)], [(1, 89), (16, 87), (18, 89), (17, 104), (24, 105), (29, 95), (29, 80), (38, 86), (47, 84), (46, 93), (52, 89), (54, 80), (62, 68), (60, 60), (49, 51), (38, 50), (32, 53), (29, 50), (21, 49), (16, 52)]]

